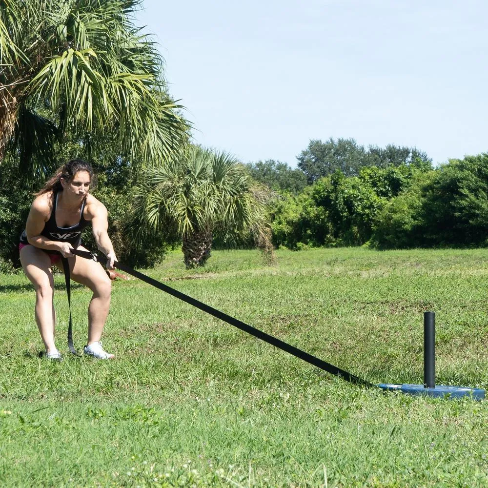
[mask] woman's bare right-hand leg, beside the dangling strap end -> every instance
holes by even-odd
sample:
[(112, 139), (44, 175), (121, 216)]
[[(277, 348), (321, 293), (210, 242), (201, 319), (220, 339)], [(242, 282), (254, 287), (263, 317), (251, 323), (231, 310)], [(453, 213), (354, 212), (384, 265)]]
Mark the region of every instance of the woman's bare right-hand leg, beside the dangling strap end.
[[(79, 249), (86, 250), (82, 246)], [(110, 308), (112, 282), (100, 263), (80, 256), (68, 258), (68, 262), (71, 278), (93, 291), (90, 305), (88, 305), (87, 345), (100, 342)]]

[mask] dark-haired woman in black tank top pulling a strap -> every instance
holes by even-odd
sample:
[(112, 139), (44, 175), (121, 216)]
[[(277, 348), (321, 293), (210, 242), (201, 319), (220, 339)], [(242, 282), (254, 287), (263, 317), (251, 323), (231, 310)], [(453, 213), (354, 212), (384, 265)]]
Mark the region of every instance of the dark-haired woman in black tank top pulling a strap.
[(97, 359), (114, 358), (103, 350), (100, 342), (110, 306), (110, 278), (100, 263), (71, 253), (76, 247), (85, 250), (80, 245), (81, 231), (91, 223), (95, 241), (108, 258), (107, 268), (113, 269), (117, 260), (107, 234), (107, 210), (89, 193), (93, 179), (91, 165), (83, 160), (74, 159), (61, 166), (36, 194), (20, 236), (20, 263), (36, 289), (36, 322), (46, 348), (45, 356), (57, 361), (62, 361), (62, 355), (54, 342), (56, 313), (50, 268), (56, 265), (62, 270), (61, 256), (68, 258), (71, 278), (93, 291), (84, 354)]

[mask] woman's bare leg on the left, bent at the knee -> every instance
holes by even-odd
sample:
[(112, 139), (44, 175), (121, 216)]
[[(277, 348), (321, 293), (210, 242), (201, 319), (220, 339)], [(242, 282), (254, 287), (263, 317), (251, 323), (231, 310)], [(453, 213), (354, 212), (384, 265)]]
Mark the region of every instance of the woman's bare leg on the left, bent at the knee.
[(54, 278), (49, 255), (33, 245), (20, 249), (20, 264), (36, 290), (36, 323), (47, 353), (55, 352)]

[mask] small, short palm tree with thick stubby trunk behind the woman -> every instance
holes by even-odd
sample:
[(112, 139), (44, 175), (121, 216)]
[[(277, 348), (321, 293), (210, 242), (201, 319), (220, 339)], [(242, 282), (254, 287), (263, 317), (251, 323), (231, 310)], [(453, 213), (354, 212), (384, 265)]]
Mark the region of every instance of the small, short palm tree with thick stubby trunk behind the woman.
[(182, 162), (151, 168), (138, 190), (136, 212), (181, 238), (187, 268), (205, 264), (215, 232), (265, 234), (269, 190), (225, 152), (190, 146)]

